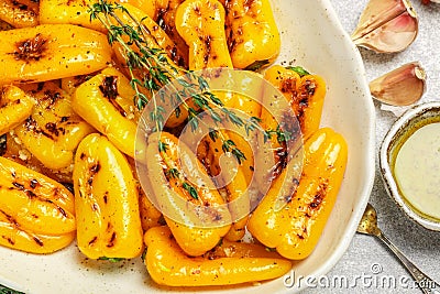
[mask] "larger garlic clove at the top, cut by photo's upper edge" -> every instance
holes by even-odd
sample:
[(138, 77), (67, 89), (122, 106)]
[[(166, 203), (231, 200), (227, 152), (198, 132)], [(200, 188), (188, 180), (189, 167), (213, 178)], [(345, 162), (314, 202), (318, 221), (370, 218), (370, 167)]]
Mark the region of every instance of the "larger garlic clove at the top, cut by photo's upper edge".
[(408, 0), (371, 0), (352, 40), (377, 53), (400, 52), (418, 33), (418, 17)]

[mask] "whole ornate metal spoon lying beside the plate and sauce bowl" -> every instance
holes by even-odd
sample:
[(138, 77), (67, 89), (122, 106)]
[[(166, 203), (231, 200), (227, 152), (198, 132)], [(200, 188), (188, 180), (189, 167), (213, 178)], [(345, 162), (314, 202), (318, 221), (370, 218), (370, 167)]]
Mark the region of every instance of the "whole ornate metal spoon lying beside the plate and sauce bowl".
[(411, 261), (409, 261), (404, 253), (402, 253), (397, 247), (395, 247), (388, 238), (377, 227), (377, 214), (371, 204), (367, 204), (364, 215), (362, 216), (361, 222), (358, 226), (358, 232), (371, 235), (377, 237), (384, 242), (400, 260), (408, 272), (416, 280), (417, 285), (426, 294), (440, 294), (440, 284), (430, 279), (428, 275), (422, 273)]

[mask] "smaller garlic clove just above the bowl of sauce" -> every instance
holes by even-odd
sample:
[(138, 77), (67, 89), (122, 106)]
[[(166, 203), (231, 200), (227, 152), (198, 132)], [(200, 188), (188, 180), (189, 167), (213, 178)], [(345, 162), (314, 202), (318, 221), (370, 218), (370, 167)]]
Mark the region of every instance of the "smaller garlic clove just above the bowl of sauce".
[(418, 62), (405, 64), (370, 83), (373, 98), (393, 106), (418, 101), (425, 89), (426, 72)]

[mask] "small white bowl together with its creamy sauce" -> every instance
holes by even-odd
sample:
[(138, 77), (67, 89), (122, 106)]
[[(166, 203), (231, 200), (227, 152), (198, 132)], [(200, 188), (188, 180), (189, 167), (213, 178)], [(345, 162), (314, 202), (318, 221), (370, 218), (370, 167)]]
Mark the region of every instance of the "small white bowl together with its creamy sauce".
[(396, 205), (411, 220), (440, 232), (440, 101), (403, 113), (382, 141), (378, 157)]

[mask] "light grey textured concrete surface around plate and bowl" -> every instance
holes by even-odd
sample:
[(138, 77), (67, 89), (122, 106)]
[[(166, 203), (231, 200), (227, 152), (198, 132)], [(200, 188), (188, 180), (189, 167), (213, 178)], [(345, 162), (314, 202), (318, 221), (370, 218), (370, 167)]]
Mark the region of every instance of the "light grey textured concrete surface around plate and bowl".
[[(330, 0), (342, 26), (353, 32), (359, 17), (367, 0)], [(413, 0), (419, 15), (419, 34), (406, 51), (398, 54), (376, 54), (360, 48), (364, 59), (369, 80), (381, 76), (403, 64), (419, 61), (427, 70), (427, 91), (420, 102), (440, 100), (440, 4), (422, 6), (420, 0)], [(376, 154), (380, 142), (396, 117), (376, 108)], [(440, 171), (435, 171), (440, 172)], [(378, 213), (378, 224), (384, 233), (419, 269), (440, 282), (440, 232), (432, 232), (408, 220), (386, 194), (378, 173), (376, 155), (376, 179), (370, 202)], [(338, 281), (345, 279), (349, 284)], [(315, 288), (304, 293), (421, 293), (414, 288), (411, 279), (403, 265), (378, 240), (373, 237), (356, 235), (340, 262), (323, 277), (318, 277)], [(334, 284), (334, 282), (337, 282)], [(322, 286), (321, 286), (321, 285)], [(333, 284), (333, 285), (326, 285)], [(440, 293), (440, 288), (437, 288)]]

